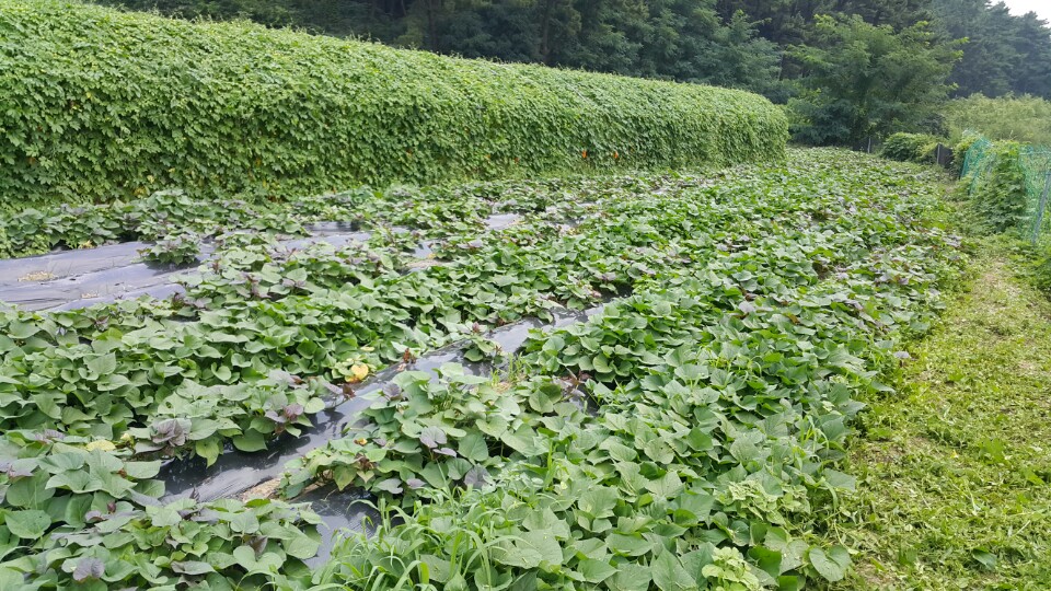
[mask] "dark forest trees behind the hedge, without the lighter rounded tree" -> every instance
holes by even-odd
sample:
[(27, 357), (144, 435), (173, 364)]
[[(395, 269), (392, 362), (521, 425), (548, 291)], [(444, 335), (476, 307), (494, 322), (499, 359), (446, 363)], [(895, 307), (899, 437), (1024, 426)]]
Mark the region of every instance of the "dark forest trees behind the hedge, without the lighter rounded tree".
[(785, 56), (820, 46), (819, 15), (903, 31), (931, 22), (967, 38), (956, 94), (1051, 97), (1047, 23), (985, 0), (100, 0), (187, 18), (246, 16), (272, 26), (365, 36), (431, 51), (747, 88), (778, 101), (806, 69)]

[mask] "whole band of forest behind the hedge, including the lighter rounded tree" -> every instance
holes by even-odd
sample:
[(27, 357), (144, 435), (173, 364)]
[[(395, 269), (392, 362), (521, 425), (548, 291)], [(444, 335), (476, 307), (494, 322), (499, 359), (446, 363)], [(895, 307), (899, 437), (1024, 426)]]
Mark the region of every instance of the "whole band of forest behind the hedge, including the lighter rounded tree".
[(986, 0), (100, 0), (469, 58), (732, 86), (796, 140), (944, 135), (950, 97), (1051, 99), (1051, 28)]

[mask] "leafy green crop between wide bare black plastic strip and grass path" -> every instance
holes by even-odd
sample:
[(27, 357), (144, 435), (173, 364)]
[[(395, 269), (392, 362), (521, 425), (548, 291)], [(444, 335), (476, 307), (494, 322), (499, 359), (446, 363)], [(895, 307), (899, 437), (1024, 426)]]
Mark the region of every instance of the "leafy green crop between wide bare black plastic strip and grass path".
[[(886, 387), (894, 339), (924, 329), (952, 268), (952, 241), (922, 221), (937, 194), (924, 174), (809, 151), (714, 184), (636, 175), (386, 195), (367, 216), (415, 215), (416, 235), (293, 253), (245, 242), (173, 300), (5, 313), (0, 479), (16, 493), (2, 506), (15, 517), (0, 576), (215, 589), (835, 578), (845, 551), (811, 547), (807, 512), (848, 485), (829, 465), (852, 396)], [(493, 206), (523, 217), (487, 231)], [(405, 273), (425, 240), (443, 264)], [(490, 338), (610, 298), (511, 359)], [(500, 369), (454, 362), (435, 380), (413, 367), (452, 343)], [(158, 500), (165, 457), (273, 453), (391, 366), (357, 429), (298, 449), (278, 489), (367, 490), (376, 537), (351, 536), (308, 570), (320, 540), (302, 507)]]

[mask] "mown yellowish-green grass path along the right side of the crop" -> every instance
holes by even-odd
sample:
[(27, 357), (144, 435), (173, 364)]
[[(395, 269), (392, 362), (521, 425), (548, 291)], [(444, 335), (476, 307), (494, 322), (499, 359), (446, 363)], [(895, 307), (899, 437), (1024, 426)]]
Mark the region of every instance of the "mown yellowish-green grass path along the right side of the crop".
[(1051, 589), (1051, 302), (1010, 268), (979, 255), (900, 392), (868, 401), (838, 589)]

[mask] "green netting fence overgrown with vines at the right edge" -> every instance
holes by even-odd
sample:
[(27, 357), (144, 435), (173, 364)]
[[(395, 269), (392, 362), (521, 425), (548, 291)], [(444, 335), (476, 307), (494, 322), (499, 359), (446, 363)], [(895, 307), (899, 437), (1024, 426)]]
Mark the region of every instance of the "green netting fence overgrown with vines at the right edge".
[(979, 137), (967, 150), (960, 178), (971, 196), (1003, 199), (1002, 229), (1014, 225), (1033, 244), (1051, 232), (1051, 148)]

